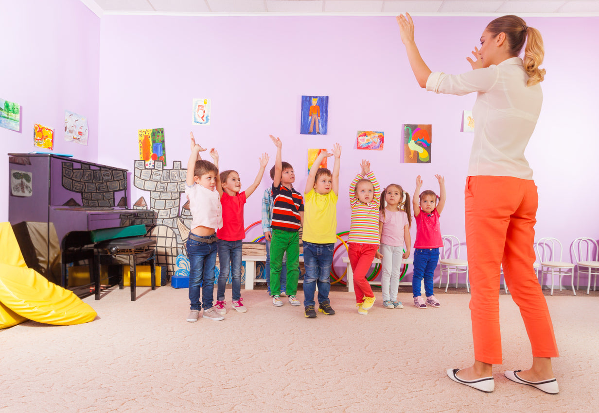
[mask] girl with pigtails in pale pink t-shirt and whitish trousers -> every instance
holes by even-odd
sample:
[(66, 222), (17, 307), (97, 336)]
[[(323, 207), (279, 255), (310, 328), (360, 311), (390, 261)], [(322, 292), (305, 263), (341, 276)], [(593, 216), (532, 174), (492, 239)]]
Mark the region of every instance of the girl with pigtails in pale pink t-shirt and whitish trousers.
[(412, 244), (410, 194), (397, 183), (391, 183), (381, 194), (379, 210), (379, 252), (382, 255), (380, 261), (383, 267), (380, 286), (383, 290), (383, 307), (404, 308), (401, 301), (397, 301), (397, 289), (400, 286), (402, 260), (410, 256)]

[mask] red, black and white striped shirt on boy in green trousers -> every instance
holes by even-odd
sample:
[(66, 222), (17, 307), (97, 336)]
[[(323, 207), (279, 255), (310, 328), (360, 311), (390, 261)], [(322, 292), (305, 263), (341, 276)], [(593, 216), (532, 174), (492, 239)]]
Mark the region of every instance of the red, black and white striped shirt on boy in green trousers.
[(299, 231), (301, 227), (300, 212), (304, 211), (304, 198), (295, 189), (287, 188), (282, 183), (273, 185), (273, 224), (274, 230)]

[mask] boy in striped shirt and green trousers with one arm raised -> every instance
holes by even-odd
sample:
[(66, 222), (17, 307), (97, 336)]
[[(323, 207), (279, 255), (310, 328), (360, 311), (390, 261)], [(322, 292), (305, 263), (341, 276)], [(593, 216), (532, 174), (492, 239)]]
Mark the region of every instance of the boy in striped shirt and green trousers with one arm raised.
[(299, 279), (299, 228), (304, 221), (304, 199), (293, 187), (295, 173), (293, 167), (281, 160), (283, 143), (270, 135), (277, 146), (273, 178), (273, 238), (270, 244), (270, 293), (273, 305), (283, 305), (281, 299), (280, 275), (283, 254), (287, 253), (287, 295), (289, 304), (301, 305), (295, 294)]

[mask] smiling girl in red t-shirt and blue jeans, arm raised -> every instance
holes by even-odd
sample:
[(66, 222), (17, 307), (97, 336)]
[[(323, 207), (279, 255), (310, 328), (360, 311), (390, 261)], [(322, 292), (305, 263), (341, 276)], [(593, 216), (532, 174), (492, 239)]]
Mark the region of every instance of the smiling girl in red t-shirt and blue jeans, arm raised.
[(260, 158), (260, 169), (252, 185), (245, 191), (241, 191), (241, 179), (234, 170), (226, 170), (220, 173), (220, 184), (222, 195), (223, 227), (216, 231), (219, 238), (218, 253), (220, 262), (220, 274), (216, 294), (216, 312), (226, 314), (225, 287), (229, 278), (229, 268), (232, 276), (232, 305), (240, 313), (245, 313), (247, 308), (243, 305), (241, 298), (241, 250), (243, 238), (246, 237), (243, 225), (243, 206), (247, 198), (258, 188), (264, 170), (268, 164), (268, 154), (262, 154)]

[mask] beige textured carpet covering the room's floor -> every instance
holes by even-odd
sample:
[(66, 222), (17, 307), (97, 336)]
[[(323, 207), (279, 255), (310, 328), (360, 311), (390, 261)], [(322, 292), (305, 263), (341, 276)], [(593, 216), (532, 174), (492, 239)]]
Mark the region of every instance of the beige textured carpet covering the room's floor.
[(129, 289), (116, 287), (100, 301), (84, 299), (98, 311), (92, 323), (0, 331), (0, 410), (598, 411), (597, 294), (547, 296), (561, 352), (557, 395), (503, 377), (531, 360), (509, 295), (500, 297), (504, 365), (489, 394), (445, 374), (473, 359), (468, 295), (437, 293), (441, 307), (426, 310), (409, 305), (409, 292), (400, 293), (403, 310), (382, 308), (376, 295), (359, 316), (353, 293), (332, 291), (337, 314), (305, 319), (302, 307), (276, 308), (265, 290), (242, 290), (247, 313), (187, 323), (186, 289), (139, 287), (131, 302)]

